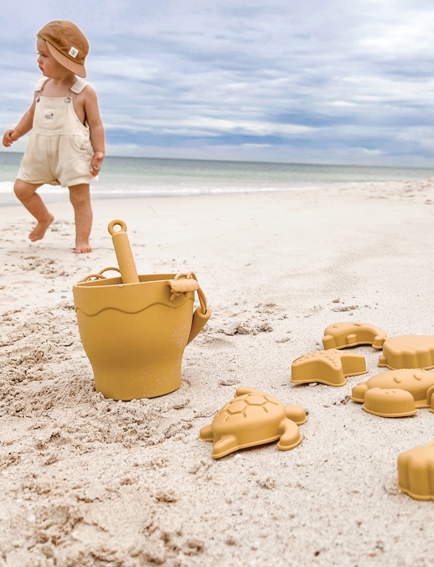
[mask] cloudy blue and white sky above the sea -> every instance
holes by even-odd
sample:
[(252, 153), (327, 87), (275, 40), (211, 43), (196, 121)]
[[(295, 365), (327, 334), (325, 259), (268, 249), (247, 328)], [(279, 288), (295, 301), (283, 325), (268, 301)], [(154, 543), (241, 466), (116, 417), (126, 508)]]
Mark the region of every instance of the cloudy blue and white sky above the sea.
[(3, 3), (3, 132), (32, 101), (36, 32), (54, 19), (90, 43), (107, 155), (433, 165), (432, 0)]

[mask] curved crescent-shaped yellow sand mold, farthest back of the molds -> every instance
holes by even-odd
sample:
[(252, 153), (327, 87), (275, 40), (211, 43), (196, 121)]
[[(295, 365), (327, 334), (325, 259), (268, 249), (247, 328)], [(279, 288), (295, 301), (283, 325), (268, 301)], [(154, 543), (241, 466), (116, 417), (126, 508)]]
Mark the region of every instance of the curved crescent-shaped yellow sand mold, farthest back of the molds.
[(325, 349), (344, 349), (348, 346), (372, 345), (381, 349), (387, 336), (380, 327), (367, 323), (334, 323), (324, 331), (322, 344)]

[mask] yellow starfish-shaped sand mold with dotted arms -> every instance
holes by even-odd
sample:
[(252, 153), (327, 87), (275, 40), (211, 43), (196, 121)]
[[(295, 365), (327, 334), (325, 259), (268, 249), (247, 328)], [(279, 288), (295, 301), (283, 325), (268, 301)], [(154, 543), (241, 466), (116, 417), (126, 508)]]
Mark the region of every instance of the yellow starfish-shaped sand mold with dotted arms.
[(291, 383), (321, 382), (344, 386), (345, 376), (366, 374), (365, 357), (338, 349), (317, 350), (296, 358), (291, 366)]

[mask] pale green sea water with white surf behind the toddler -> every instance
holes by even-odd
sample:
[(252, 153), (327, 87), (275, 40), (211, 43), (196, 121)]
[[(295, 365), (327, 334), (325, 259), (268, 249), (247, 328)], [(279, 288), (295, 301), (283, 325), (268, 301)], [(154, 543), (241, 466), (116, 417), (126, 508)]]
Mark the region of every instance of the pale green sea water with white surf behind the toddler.
[[(22, 154), (0, 151), (0, 206), (18, 205), (12, 190)], [(324, 189), (330, 185), (423, 180), (434, 168), (229, 162), (107, 156), (92, 198), (167, 197)], [(67, 201), (66, 188), (43, 185), (46, 202)]]

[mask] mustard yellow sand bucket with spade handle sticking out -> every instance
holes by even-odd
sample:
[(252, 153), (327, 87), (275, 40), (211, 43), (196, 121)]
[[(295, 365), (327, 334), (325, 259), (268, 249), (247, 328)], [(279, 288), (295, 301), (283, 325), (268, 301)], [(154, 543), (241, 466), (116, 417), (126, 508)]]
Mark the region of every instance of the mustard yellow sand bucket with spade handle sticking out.
[[(162, 396), (181, 386), (185, 346), (211, 312), (193, 272), (138, 275), (125, 223), (112, 221), (108, 230), (120, 269), (105, 268), (73, 286), (95, 388), (114, 400)], [(105, 277), (108, 270), (120, 277)]]

